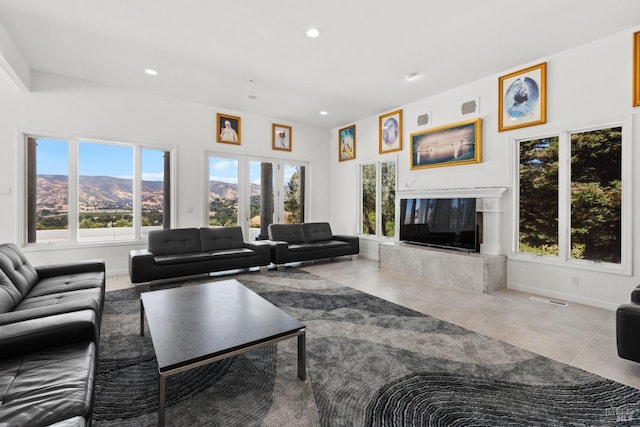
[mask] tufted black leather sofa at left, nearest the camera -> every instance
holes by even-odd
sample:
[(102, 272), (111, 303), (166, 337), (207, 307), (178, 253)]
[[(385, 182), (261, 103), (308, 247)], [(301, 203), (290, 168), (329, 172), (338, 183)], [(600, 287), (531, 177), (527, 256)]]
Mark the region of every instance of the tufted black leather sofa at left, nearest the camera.
[(91, 423), (104, 292), (101, 260), (34, 267), (0, 245), (0, 426)]

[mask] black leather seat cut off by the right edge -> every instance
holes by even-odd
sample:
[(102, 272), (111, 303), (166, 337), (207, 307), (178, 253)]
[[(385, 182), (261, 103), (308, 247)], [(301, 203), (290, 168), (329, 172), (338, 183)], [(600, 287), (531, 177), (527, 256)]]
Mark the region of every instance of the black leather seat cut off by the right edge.
[(631, 292), (631, 303), (616, 310), (618, 356), (640, 362), (640, 285)]

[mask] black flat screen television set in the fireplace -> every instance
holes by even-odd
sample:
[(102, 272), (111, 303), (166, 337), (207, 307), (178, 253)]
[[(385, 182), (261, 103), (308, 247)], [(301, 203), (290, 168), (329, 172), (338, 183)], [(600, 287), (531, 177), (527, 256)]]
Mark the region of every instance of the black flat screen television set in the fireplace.
[(476, 199), (401, 199), (400, 240), (476, 252)]

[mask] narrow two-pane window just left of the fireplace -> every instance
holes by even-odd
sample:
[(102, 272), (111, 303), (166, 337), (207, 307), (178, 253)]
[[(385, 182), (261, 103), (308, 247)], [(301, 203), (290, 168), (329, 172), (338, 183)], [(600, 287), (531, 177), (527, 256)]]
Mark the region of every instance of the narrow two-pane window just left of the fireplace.
[(360, 165), (361, 234), (395, 236), (396, 162)]

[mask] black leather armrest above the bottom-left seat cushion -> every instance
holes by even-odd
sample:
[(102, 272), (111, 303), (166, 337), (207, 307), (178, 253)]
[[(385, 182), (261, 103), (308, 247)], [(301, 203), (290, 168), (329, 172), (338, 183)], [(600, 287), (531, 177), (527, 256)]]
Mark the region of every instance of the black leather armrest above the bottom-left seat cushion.
[(0, 328), (0, 354), (10, 357), (47, 347), (80, 341), (98, 342), (97, 317), (93, 310), (29, 319)]

